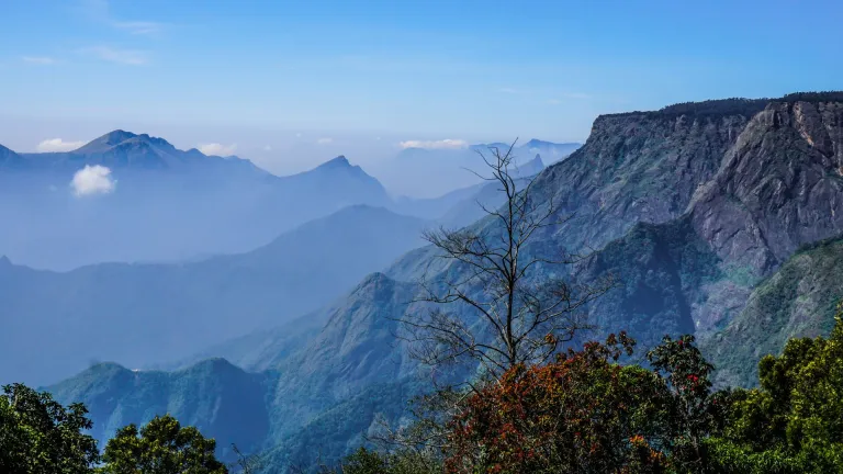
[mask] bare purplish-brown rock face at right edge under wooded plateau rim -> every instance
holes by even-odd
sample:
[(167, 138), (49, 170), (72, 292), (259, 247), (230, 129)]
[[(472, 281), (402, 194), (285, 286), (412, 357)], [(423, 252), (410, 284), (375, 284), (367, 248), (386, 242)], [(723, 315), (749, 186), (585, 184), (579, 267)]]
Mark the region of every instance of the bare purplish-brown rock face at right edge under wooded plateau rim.
[(694, 226), (721, 258), (766, 274), (843, 230), (842, 163), (842, 102), (771, 103), (695, 196)]

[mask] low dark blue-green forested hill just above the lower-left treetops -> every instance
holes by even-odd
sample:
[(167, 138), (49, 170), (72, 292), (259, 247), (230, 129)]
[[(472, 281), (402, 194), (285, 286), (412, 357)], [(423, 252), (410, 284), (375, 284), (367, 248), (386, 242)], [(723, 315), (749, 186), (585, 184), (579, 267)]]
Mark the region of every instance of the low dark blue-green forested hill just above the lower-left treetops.
[(233, 460), (232, 443), (252, 452), (267, 436), (263, 381), (265, 376), (246, 373), (223, 359), (170, 373), (100, 363), (48, 390), (91, 400), (89, 416), (98, 420), (91, 436), (99, 440), (112, 438), (127, 420), (148, 421), (153, 414), (170, 414), (215, 438), (218, 454)]

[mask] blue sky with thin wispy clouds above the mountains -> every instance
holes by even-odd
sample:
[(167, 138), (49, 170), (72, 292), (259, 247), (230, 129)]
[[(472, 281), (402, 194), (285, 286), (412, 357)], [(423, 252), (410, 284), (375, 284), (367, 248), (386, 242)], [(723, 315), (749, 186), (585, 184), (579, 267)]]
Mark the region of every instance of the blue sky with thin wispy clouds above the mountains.
[(276, 170), (412, 139), (584, 140), (600, 113), (843, 78), (839, 1), (0, 0), (0, 18), (1, 144), (122, 127)]

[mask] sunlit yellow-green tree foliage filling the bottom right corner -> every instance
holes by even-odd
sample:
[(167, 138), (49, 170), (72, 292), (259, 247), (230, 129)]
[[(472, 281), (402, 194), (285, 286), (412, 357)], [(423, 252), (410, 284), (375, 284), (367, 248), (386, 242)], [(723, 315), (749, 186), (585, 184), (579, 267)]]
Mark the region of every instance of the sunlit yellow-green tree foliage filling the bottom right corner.
[(791, 339), (758, 364), (761, 387), (730, 394), (722, 433), (708, 441), (735, 473), (843, 473), (843, 319), (828, 339)]

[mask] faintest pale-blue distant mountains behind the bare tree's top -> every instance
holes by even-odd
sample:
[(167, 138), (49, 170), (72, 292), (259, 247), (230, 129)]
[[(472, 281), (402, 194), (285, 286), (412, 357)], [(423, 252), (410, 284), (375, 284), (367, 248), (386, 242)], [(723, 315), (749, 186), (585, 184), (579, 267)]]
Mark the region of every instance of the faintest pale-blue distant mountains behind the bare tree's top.
[[(485, 163), (479, 155), (496, 147), (506, 153), (510, 144), (477, 144), (462, 148), (405, 148), (398, 155), (372, 169), (372, 172), (395, 194), (416, 199), (432, 199), (451, 191), (482, 182), (475, 173), (485, 172)], [(536, 155), (547, 162), (561, 160), (580, 144), (553, 144), (530, 140), (513, 149), (515, 163), (522, 166)]]

